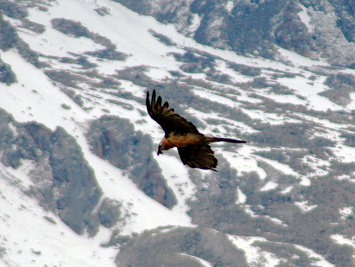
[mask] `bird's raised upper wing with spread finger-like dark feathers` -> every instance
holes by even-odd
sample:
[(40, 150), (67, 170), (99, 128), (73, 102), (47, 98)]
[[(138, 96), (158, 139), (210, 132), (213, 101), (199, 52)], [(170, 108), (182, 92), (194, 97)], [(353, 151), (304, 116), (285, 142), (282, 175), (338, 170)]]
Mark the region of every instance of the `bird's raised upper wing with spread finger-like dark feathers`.
[(175, 113), (173, 108), (169, 109), (169, 103), (166, 101), (162, 106), (162, 97), (158, 96), (155, 101), (155, 89), (152, 94), (152, 101), (149, 101), (149, 91), (147, 91), (146, 105), (149, 116), (162, 126), (165, 136), (171, 132), (186, 134), (189, 132), (198, 133), (196, 126), (190, 121), (182, 118)]

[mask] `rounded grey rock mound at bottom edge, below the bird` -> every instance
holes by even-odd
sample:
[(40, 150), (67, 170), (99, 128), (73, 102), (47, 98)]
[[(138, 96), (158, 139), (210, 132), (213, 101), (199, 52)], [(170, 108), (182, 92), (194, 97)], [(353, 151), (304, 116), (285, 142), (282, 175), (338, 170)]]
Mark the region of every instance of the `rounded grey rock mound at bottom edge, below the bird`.
[[(164, 231), (161, 231), (164, 230)], [(171, 266), (198, 267), (200, 257), (211, 266), (249, 266), (244, 253), (237, 249), (222, 233), (203, 227), (147, 230), (128, 239), (117, 237), (120, 253), (117, 266)]]

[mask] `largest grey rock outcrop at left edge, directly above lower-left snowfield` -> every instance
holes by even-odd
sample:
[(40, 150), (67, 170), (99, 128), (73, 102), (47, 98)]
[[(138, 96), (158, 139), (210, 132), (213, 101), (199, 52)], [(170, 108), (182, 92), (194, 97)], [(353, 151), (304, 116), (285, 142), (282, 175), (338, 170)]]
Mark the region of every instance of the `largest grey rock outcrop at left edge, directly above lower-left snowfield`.
[[(13, 125), (13, 132), (10, 128)], [(20, 124), (5, 111), (0, 110), (1, 162), (17, 168), (21, 159), (34, 161), (29, 174), (35, 183), (26, 192), (37, 198), (44, 208), (58, 214), (73, 231), (82, 234), (87, 225), (92, 225), (93, 212), (102, 195), (91, 167), (81, 152), (75, 138), (62, 127), (54, 132), (35, 122)], [(103, 203), (107, 203), (108, 200)], [(109, 227), (118, 221), (120, 213), (107, 204), (100, 208), (114, 213)]]

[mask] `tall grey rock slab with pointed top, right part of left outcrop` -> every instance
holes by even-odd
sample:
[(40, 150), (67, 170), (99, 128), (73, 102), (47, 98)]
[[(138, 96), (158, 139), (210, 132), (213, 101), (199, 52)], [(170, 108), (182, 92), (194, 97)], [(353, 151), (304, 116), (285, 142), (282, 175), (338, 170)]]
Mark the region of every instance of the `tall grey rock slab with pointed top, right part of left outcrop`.
[(51, 143), (49, 163), (53, 186), (58, 188), (61, 195), (56, 200), (59, 217), (75, 232), (82, 233), (87, 215), (100, 199), (101, 189), (72, 136), (58, 127)]

